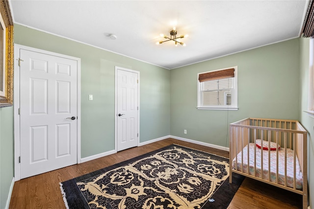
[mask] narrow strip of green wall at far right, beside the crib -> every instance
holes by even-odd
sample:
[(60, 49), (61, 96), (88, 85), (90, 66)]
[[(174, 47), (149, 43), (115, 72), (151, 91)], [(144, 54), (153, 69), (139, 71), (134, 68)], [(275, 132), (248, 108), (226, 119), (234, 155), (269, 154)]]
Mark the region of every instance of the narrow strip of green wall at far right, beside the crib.
[[(309, 101), (309, 70), (310, 70), (310, 39), (300, 39), (300, 122), (308, 131), (308, 179), (310, 206), (314, 208), (314, 116), (303, 112), (308, 110)], [(313, 78), (312, 78), (313, 79)]]

